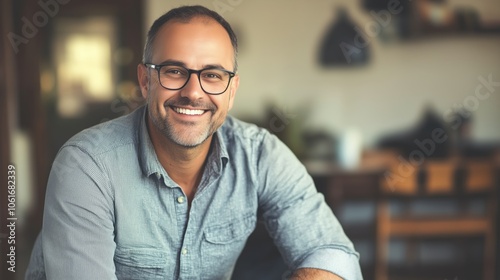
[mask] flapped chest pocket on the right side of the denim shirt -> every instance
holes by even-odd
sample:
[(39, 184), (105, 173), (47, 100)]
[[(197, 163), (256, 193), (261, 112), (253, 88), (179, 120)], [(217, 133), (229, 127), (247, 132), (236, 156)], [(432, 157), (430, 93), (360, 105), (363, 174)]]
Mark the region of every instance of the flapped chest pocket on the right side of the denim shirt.
[[(241, 254), (246, 240), (255, 229), (256, 216), (251, 214), (243, 219), (211, 226), (205, 229), (201, 247), (201, 259), (204, 271), (210, 271), (208, 279), (226, 279), (228, 275), (218, 272), (232, 272)], [(217, 267), (217, 270), (213, 268)]]

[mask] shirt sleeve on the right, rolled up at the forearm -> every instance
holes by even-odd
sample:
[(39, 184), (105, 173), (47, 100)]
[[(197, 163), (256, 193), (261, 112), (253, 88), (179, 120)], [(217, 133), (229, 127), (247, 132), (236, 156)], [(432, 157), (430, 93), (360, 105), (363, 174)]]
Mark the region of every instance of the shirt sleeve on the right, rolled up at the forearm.
[(256, 155), (261, 218), (290, 270), (363, 279), (359, 254), (300, 161), (268, 133)]

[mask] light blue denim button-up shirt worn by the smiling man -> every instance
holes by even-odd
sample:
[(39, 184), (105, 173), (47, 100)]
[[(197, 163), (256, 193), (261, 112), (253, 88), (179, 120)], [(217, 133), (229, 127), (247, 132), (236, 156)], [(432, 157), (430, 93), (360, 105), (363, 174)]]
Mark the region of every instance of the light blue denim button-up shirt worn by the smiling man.
[(228, 117), (189, 207), (158, 161), (145, 112), (84, 130), (61, 148), (28, 279), (43, 269), (47, 279), (230, 279), (258, 219), (290, 270), (362, 279), (352, 243), (275, 136)]

